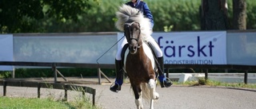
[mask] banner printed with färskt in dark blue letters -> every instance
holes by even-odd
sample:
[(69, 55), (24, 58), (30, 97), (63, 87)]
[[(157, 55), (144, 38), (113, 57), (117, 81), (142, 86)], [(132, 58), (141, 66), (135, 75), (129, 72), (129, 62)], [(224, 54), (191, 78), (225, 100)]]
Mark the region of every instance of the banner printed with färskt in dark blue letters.
[(153, 33), (165, 64), (226, 64), (226, 31)]

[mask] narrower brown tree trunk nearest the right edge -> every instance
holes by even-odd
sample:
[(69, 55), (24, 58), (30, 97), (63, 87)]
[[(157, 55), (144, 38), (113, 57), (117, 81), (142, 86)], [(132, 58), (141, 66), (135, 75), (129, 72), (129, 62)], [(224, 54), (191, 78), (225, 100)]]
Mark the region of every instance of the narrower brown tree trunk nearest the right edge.
[(246, 0), (233, 0), (233, 29), (246, 29)]

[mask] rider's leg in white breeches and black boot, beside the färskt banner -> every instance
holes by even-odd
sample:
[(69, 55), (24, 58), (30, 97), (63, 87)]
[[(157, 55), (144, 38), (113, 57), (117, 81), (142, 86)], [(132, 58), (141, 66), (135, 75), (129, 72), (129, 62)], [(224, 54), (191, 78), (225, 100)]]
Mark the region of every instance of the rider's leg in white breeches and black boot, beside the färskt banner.
[(156, 52), (157, 56), (158, 56), (158, 80), (161, 84), (161, 87), (164, 88), (168, 88), (172, 85), (172, 82), (170, 80), (166, 80), (166, 76), (164, 76), (164, 66), (163, 66), (163, 56), (162, 56), (162, 50), (160, 49), (158, 43), (156, 41), (154, 41), (153, 37), (148, 37), (148, 41), (150, 43), (150, 45), (153, 45), (154, 51)]

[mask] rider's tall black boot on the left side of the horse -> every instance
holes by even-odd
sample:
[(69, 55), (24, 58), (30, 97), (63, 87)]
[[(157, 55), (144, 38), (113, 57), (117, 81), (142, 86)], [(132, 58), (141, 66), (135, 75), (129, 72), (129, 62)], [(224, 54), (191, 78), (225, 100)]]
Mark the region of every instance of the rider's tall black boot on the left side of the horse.
[(115, 72), (116, 79), (114, 86), (110, 87), (110, 91), (118, 92), (121, 91), (121, 85), (123, 81), (122, 60), (115, 60)]

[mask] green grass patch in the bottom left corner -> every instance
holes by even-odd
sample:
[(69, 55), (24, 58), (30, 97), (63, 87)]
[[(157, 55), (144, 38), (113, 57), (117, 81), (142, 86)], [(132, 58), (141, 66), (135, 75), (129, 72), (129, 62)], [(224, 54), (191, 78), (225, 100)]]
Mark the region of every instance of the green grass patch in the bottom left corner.
[[(88, 101), (86, 99), (86, 101)], [(13, 98), (0, 97), (0, 109), (6, 108), (28, 108), (28, 109), (100, 109), (86, 102), (85, 97), (76, 99), (72, 102), (54, 101), (53, 99), (38, 99), (38, 98)]]

